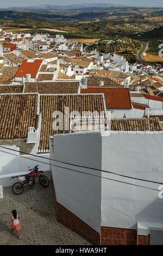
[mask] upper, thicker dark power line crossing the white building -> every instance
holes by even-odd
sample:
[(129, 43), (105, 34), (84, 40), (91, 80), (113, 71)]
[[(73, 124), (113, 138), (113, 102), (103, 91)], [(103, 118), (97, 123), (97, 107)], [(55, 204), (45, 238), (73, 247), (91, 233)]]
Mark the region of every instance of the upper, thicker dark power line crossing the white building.
[(140, 181), (146, 181), (146, 182), (151, 182), (151, 183), (160, 184), (160, 185), (163, 184), (163, 182), (161, 183), (161, 182), (157, 182), (157, 181), (153, 181), (153, 180), (145, 180), (145, 179), (134, 178), (134, 177), (127, 176), (127, 175), (118, 174), (118, 173), (115, 173), (115, 172), (110, 172), (110, 171), (108, 171), (108, 170), (101, 170), (101, 169), (96, 169), (96, 168), (92, 168), (92, 167), (80, 166), (80, 165), (78, 165), (78, 164), (62, 162), (62, 161), (55, 160), (55, 159), (50, 159), (50, 158), (47, 158), (47, 157), (44, 157), (44, 156), (38, 156), (38, 155), (28, 154), (28, 153), (26, 153), (26, 152), (19, 151), (19, 150), (16, 150), (16, 149), (5, 148), (5, 147), (2, 147), (2, 146), (0, 146), (0, 148), (8, 149), (8, 150), (11, 150), (11, 151), (15, 151), (15, 152), (22, 153), (22, 154), (26, 154), (26, 155), (30, 155), (30, 156), (40, 157), (41, 159), (46, 159), (46, 160), (51, 160), (51, 161), (55, 161), (55, 162), (59, 162), (59, 163), (69, 164), (69, 165), (75, 166), (75, 167), (86, 168), (86, 169), (91, 169), (91, 170), (97, 170), (98, 172), (103, 172), (103, 173), (110, 173), (110, 174), (114, 174), (114, 175), (117, 175), (117, 176), (121, 176), (121, 177), (123, 177), (123, 178), (134, 179), (134, 180), (140, 180)]

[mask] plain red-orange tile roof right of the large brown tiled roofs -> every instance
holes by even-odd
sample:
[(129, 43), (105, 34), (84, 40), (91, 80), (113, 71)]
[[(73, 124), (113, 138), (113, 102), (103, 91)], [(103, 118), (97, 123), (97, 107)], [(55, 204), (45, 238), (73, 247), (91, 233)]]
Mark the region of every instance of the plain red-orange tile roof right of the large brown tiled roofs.
[(87, 89), (81, 89), (81, 93), (103, 93), (106, 108), (132, 108), (128, 88), (89, 87)]

